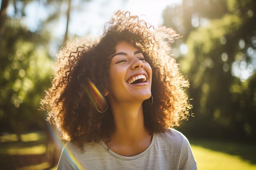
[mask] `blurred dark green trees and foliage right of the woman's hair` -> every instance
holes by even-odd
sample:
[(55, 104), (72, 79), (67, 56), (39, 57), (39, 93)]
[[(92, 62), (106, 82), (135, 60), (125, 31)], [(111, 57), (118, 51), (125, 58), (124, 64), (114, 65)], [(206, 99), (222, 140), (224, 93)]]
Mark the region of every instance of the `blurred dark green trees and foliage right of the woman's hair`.
[[(184, 12), (180, 19), (186, 22), (182, 25), (170, 22), (179, 14), (165, 15), (167, 26), (174, 24), (177, 30), (186, 29), (182, 41), (189, 49), (177, 60), (191, 83), (189, 96), (193, 98), (190, 103), (195, 118), (186, 122), (182, 131), (197, 137), (204, 134), (209, 138), (255, 140), (255, 2), (214, 3), (184, 0), (181, 7), (175, 7)], [(221, 14), (212, 13), (220, 4)], [(165, 13), (168, 11), (171, 9), (167, 8)], [(193, 25), (193, 18), (198, 24)], [(202, 20), (207, 20), (207, 24)]]

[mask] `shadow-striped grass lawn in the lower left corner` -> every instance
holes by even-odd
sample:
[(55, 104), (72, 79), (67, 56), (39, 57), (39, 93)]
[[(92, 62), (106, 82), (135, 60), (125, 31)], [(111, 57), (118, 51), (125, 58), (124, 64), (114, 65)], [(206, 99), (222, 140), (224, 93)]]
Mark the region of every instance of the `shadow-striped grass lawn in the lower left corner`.
[(0, 136), (0, 165), (3, 170), (44, 170), (50, 167), (47, 161), (46, 138), (43, 132)]

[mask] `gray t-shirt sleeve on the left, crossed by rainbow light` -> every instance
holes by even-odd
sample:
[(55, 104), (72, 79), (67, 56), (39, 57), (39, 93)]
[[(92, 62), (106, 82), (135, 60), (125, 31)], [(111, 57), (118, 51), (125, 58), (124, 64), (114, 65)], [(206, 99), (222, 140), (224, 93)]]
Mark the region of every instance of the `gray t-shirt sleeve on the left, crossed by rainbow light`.
[(68, 146), (68, 144), (61, 152), (57, 170), (79, 170), (76, 166), (76, 160), (72, 152), (72, 148)]

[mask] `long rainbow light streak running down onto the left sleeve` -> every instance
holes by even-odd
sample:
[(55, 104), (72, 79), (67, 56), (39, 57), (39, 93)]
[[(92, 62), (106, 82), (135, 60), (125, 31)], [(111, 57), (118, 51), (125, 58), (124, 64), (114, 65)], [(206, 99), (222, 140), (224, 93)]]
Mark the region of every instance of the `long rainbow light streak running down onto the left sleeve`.
[[(66, 155), (68, 155), (69, 159), (72, 161), (72, 163), (75, 164), (75, 166), (79, 169), (79, 170), (85, 170), (81, 164), (76, 161), (76, 158), (74, 157), (74, 155), (72, 154), (72, 151), (70, 150), (70, 148), (65, 147), (65, 145), (62, 143), (62, 141), (59, 139), (59, 135), (57, 134), (57, 129), (54, 129), (53, 126), (50, 126), (49, 124), (47, 124), (47, 128), (49, 130), (49, 132), (51, 133), (52, 137), (54, 138), (54, 141), (58, 144), (58, 146), (60, 148), (64, 148), (62, 152), (65, 152)], [(63, 154), (63, 153), (62, 153)]]

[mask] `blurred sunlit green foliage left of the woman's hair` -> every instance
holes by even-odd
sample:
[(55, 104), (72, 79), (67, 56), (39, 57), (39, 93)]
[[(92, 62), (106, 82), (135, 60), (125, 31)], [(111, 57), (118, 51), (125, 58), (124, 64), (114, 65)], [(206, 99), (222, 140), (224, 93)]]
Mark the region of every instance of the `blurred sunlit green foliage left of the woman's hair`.
[(4, 39), (0, 42), (2, 132), (19, 134), (36, 124), (43, 124), (45, 113), (38, 108), (42, 92), (49, 86), (53, 63), (43, 49), (45, 42), (38, 33), (7, 22)]

